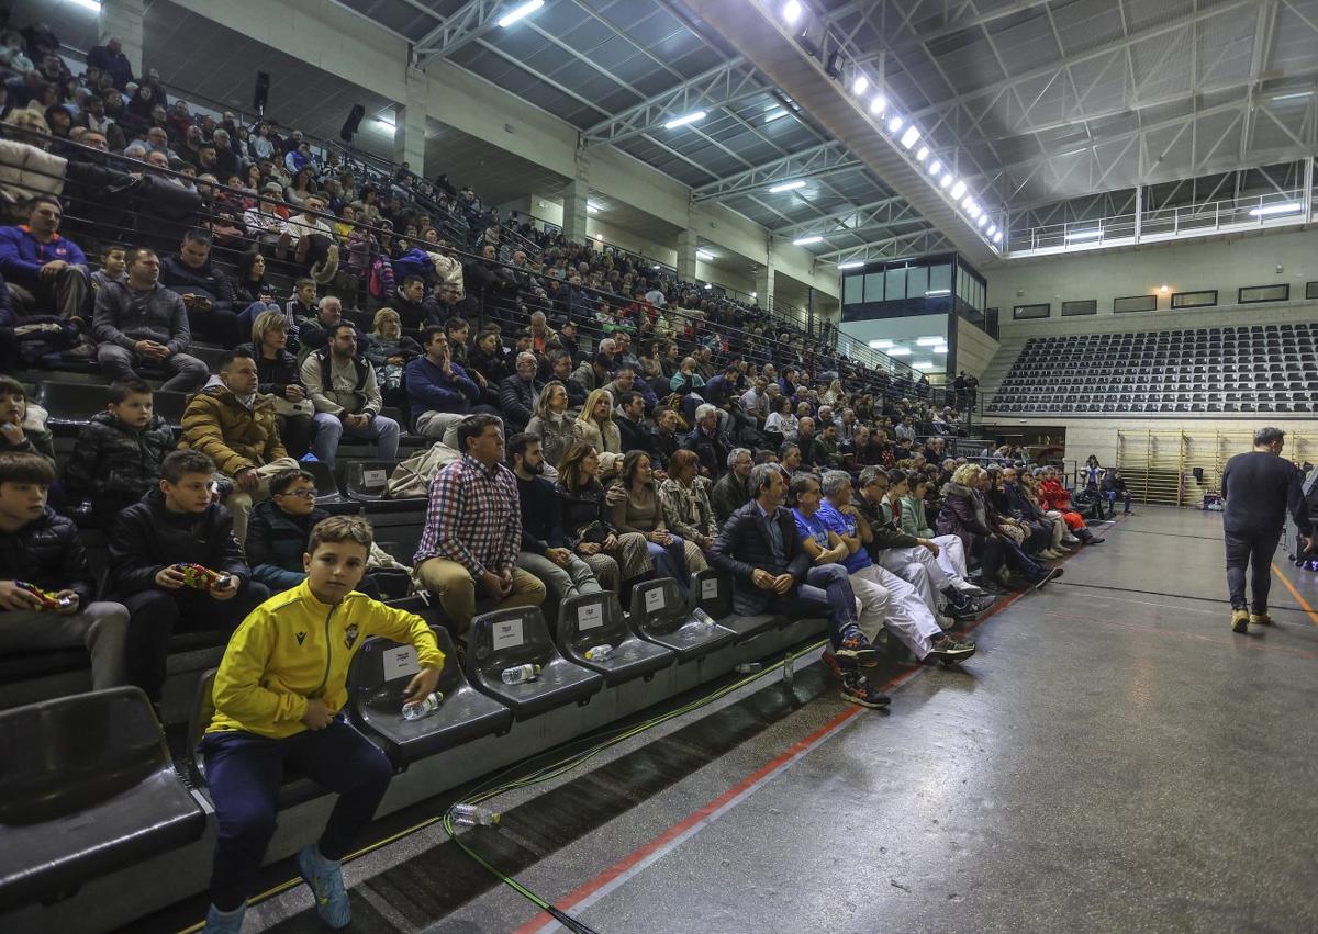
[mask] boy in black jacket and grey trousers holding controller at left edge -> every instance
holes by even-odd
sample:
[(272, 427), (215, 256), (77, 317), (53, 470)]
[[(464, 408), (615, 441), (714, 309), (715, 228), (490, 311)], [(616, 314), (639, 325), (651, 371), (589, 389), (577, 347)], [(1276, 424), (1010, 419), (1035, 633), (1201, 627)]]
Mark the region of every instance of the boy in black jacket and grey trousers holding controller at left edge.
[[(46, 506), (55, 478), (33, 453), (0, 453), (0, 655), (86, 646), (95, 690), (125, 682), (128, 610), (94, 603), (96, 585), (78, 527)], [(20, 588), (54, 593), (65, 606), (42, 606)]]

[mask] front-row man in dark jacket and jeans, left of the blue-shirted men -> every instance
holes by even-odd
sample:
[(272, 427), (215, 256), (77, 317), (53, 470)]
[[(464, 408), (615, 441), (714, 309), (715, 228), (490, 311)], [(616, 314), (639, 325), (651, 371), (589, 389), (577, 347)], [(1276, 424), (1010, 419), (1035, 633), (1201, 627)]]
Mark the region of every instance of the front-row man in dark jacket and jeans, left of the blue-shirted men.
[(876, 664), (878, 651), (857, 626), (857, 601), (846, 568), (812, 564), (796, 520), (782, 506), (787, 483), (778, 465), (755, 466), (750, 487), (755, 498), (731, 514), (709, 548), (709, 564), (733, 577), (733, 607), (742, 615), (772, 607), (789, 619), (828, 617), (833, 655), (844, 669), (850, 669), (844, 698), (883, 706), (887, 698), (855, 672), (858, 664)]

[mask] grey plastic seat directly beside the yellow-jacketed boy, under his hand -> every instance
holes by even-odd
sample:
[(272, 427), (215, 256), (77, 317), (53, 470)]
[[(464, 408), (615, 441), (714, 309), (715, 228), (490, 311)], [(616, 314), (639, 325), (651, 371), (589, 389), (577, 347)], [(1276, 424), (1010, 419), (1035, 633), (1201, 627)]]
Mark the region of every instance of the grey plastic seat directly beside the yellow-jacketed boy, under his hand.
[(507, 732), (513, 726), (511, 710), (467, 682), (448, 631), (432, 632), (444, 653), (438, 685), (444, 700), (419, 721), (402, 715), (405, 689), (419, 671), (411, 646), (368, 639), (348, 671), (348, 718), (380, 743), (397, 768), (481, 736)]

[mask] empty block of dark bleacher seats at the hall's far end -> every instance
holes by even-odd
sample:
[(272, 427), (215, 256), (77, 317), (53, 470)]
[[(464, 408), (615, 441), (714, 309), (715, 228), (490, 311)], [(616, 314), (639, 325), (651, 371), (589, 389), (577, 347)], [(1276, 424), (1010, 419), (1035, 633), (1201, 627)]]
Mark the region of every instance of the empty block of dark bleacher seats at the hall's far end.
[(1033, 337), (988, 406), (1010, 414), (1314, 411), (1318, 324)]

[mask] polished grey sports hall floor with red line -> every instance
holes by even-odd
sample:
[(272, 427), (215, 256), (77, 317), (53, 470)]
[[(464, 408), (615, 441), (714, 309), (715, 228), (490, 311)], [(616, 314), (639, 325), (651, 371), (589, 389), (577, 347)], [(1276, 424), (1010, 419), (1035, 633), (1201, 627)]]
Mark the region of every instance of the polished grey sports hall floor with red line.
[[(1139, 510), (963, 671), (886, 671), (890, 713), (764, 678), (464, 839), (601, 934), (1318, 930), (1318, 585), (1284, 557), (1235, 635), (1220, 515)], [(434, 826), (348, 877), (353, 930), (563, 930)], [(320, 927), (298, 887), (246, 930)]]

